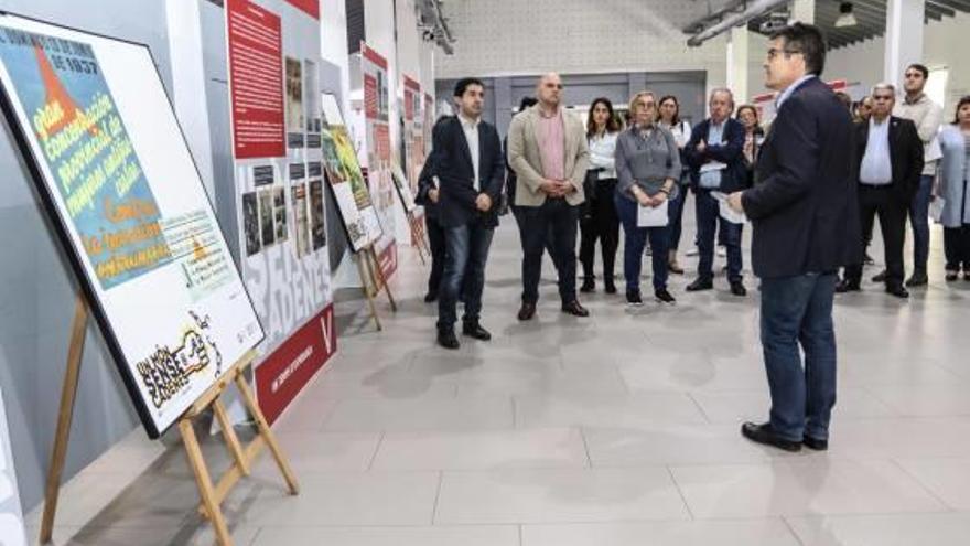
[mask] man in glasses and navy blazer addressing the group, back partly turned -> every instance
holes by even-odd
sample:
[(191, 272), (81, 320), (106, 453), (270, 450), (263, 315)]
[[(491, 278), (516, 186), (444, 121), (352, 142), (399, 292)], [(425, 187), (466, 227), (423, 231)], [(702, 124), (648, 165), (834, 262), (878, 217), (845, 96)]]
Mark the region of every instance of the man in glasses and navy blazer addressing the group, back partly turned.
[(754, 186), (728, 199), (754, 227), (752, 263), (762, 279), (761, 338), (772, 389), (770, 420), (745, 422), (741, 432), (788, 451), (828, 449), (837, 270), (862, 259), (852, 120), (819, 79), (824, 61), (816, 26), (795, 23), (772, 34), (765, 71), (767, 87), (779, 92), (777, 117)]

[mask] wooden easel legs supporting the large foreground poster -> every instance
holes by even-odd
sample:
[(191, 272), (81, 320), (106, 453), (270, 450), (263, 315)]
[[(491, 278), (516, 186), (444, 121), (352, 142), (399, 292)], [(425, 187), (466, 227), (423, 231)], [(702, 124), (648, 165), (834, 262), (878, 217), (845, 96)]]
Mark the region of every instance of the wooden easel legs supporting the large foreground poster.
[[(61, 478), (64, 471), (64, 462), (67, 454), (67, 442), (71, 435), (71, 422), (74, 418), (74, 402), (77, 394), (77, 379), (80, 372), (80, 357), (84, 353), (84, 336), (87, 330), (88, 307), (83, 296), (78, 296), (74, 307), (74, 321), (71, 326), (71, 345), (67, 351), (67, 370), (64, 373), (64, 386), (61, 392), (61, 410), (57, 414), (57, 429), (54, 436), (54, 449), (51, 453), (51, 465), (47, 469), (47, 485), (44, 492), (44, 516), (41, 522), (41, 544), (51, 542), (54, 532), (54, 515), (57, 511), (57, 497), (61, 491)], [(289, 462), (283, 457), (283, 452), (277, 443), (272, 430), (262, 410), (256, 403), (256, 397), (246, 382), (244, 372), (252, 364), (255, 351), (249, 351), (234, 364), (226, 374), (212, 387), (208, 388), (193, 404), (185, 414), (179, 419), (179, 431), (182, 433), (182, 443), (185, 446), (185, 453), (188, 457), (188, 464), (192, 473), (195, 475), (195, 483), (198, 486), (201, 503), (198, 506), (200, 514), (207, 518), (215, 529), (216, 540), (220, 546), (231, 546), (233, 537), (229, 535), (229, 527), (223, 515), (222, 503), (228, 496), (233, 486), (246, 475), (252, 468), (252, 463), (259, 457), (260, 451), (265, 447), (269, 447), (270, 452), (276, 459), (280, 472), (287, 482), (287, 488), (292, 495), (300, 493), (297, 478), (290, 468)], [(242, 400), (247, 409), (256, 420), (257, 436), (246, 447), (242, 447), (233, 422), (226, 411), (226, 407), (222, 402), (222, 396), (226, 389), (233, 384), (242, 395)], [(193, 428), (194, 420), (206, 409), (212, 408), (223, 438), (226, 440), (226, 447), (233, 458), (233, 465), (223, 474), (218, 482), (213, 484), (209, 477), (208, 467), (202, 456), (202, 449), (198, 446), (198, 438), (195, 436)]]

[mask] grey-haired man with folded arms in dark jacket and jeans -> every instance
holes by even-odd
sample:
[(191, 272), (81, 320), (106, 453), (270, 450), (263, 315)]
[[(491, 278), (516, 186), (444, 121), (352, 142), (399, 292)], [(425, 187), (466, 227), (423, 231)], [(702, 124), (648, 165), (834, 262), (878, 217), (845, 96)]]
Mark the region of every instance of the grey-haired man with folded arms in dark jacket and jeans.
[(723, 243), (728, 250), (728, 281), (731, 293), (745, 296), (741, 269), (741, 232), (744, 224), (723, 218), (719, 222), (718, 200), (711, 192), (731, 193), (750, 185), (744, 167), (744, 126), (731, 118), (734, 96), (729, 89), (711, 92), (709, 103), (711, 117), (696, 125), (690, 141), (683, 147), (683, 158), (690, 167), (691, 188), (697, 203), (698, 223), (698, 278), (687, 286), (687, 291), (714, 288), (714, 233), (721, 224)]

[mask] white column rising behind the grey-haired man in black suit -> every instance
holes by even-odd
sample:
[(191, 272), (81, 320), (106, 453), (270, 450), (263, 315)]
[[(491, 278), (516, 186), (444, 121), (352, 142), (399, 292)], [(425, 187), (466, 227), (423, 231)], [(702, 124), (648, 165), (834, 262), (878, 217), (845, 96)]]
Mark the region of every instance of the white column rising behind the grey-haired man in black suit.
[(903, 72), (913, 63), (923, 62), (923, 24), (925, 0), (888, 0), (886, 2), (886, 50), (883, 79), (897, 87)]

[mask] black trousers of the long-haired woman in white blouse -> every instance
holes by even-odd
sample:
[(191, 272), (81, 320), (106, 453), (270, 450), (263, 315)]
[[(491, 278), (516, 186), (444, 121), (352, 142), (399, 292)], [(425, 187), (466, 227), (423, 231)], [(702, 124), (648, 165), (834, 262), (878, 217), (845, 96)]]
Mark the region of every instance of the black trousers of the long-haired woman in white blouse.
[(596, 254), (596, 239), (603, 256), (603, 278), (613, 280), (613, 264), (616, 247), (619, 246), (619, 218), (613, 194), (616, 180), (601, 180), (596, 185), (596, 196), (589, 203), (589, 214), (580, 218), (580, 261), (583, 264), (583, 278), (594, 279), (593, 263)]

